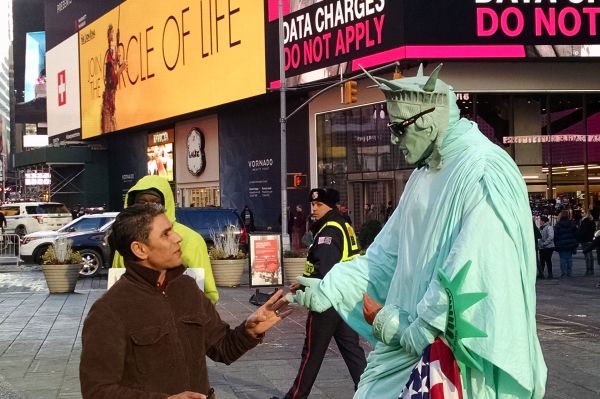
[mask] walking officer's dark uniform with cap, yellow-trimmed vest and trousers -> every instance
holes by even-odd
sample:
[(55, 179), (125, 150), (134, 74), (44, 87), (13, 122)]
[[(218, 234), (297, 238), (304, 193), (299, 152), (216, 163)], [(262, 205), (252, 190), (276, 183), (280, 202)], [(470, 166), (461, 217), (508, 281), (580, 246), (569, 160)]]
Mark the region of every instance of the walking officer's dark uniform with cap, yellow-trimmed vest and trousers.
[[(331, 189), (319, 189), (312, 190), (311, 194), (315, 191), (333, 196), (333, 198), (322, 201), (329, 206), (331, 206), (330, 203), (333, 203), (331, 206), (333, 209), (311, 227), (314, 240), (308, 251), (304, 275), (322, 279), (336, 263), (356, 257), (359, 254), (359, 248), (354, 230), (335, 207), (335, 202), (339, 200), (339, 193)], [(314, 196), (311, 199), (314, 199)], [(359, 345), (358, 334), (342, 320), (334, 308), (330, 308), (323, 313), (312, 311), (308, 313), (302, 362), (294, 384), (285, 396), (286, 399), (308, 397), (323, 363), (331, 337), (335, 338), (356, 389), (360, 375), (367, 365), (365, 352)]]

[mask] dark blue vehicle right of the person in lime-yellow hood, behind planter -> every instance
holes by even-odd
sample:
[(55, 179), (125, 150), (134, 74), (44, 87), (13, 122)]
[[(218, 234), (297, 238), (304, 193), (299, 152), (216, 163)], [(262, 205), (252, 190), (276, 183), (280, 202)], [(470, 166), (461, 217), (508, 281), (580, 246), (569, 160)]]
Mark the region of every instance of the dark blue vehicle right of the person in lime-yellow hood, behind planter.
[(240, 246), (245, 247), (248, 234), (242, 223), (242, 218), (235, 209), (207, 208), (175, 208), (175, 218), (192, 230), (200, 233), (206, 245), (213, 246), (211, 233), (223, 235), (226, 229), (234, 229), (240, 236)]

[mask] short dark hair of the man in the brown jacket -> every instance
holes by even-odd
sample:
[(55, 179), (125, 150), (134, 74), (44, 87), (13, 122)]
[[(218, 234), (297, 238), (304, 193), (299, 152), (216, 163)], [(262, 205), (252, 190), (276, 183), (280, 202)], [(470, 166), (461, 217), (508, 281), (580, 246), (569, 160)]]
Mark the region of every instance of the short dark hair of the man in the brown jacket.
[(119, 251), (125, 260), (137, 260), (131, 252), (131, 243), (146, 243), (152, 229), (152, 221), (163, 213), (165, 208), (162, 205), (151, 202), (134, 204), (123, 209), (112, 225), (110, 246)]

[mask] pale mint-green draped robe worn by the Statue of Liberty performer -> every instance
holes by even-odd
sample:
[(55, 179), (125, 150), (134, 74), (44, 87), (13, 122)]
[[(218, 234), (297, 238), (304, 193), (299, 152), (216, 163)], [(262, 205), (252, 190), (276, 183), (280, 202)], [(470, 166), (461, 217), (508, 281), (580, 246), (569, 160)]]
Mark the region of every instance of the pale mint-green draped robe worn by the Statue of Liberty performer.
[[(452, 278), (471, 261), (462, 292), (487, 296), (465, 317), (487, 337), (463, 340), (483, 364), (483, 372), (462, 370), (465, 397), (542, 398), (547, 369), (536, 333), (535, 248), (524, 181), (507, 153), (465, 119), (451, 124), (440, 154), (440, 169), (413, 172), (366, 255), (337, 264), (320, 288), (371, 342), (363, 292), (443, 335), (448, 297), (438, 270)], [(355, 398), (398, 398), (417, 361), (398, 340), (377, 342)]]

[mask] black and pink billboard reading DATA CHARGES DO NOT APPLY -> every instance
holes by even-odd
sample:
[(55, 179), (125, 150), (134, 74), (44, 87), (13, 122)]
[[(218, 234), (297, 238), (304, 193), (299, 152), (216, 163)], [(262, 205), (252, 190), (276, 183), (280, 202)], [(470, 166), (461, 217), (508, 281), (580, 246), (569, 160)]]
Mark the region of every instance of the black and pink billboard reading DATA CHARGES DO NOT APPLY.
[[(600, 6), (593, 1), (284, 3), (286, 76), (301, 77), (292, 84), (401, 59), (600, 57)], [(277, 6), (268, 1), (271, 87), (279, 85)]]

